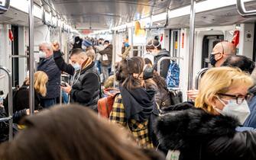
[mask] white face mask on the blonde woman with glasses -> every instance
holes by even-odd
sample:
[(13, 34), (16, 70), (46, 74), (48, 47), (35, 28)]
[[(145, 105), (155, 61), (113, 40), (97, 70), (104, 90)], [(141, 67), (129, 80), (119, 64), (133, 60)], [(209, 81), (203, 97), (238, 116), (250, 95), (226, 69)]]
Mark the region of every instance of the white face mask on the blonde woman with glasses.
[(222, 104), (224, 104), (224, 108), (223, 110), (219, 110), (216, 107), (214, 109), (218, 111), (219, 114), (237, 117), (241, 124), (245, 123), (245, 120), (251, 114), (246, 100), (244, 100), (241, 104), (237, 104), (236, 100), (229, 100), (228, 104), (225, 104), (220, 98), (218, 99)]

